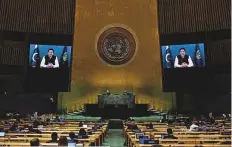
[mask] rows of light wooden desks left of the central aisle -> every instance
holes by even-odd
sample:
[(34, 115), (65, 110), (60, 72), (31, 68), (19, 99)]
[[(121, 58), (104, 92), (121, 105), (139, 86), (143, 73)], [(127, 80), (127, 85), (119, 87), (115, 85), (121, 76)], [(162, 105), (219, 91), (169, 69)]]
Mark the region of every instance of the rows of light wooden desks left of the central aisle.
[[(26, 122), (25, 124), (30, 124), (31, 122)], [(0, 146), (29, 146), (30, 140), (33, 138), (38, 138), (42, 146), (57, 146), (57, 143), (46, 143), (51, 140), (51, 133), (56, 132), (58, 137), (60, 136), (69, 136), (69, 132), (74, 132), (78, 134), (79, 129), (82, 127), (78, 127), (79, 122), (62, 122), (62, 123), (51, 123), (48, 126), (44, 126), (43, 128), (34, 128), (39, 129), (41, 134), (36, 133), (27, 133), (27, 132), (19, 132), (19, 133), (6, 133), (5, 137), (0, 138)], [(83, 122), (88, 125), (86, 130), (92, 129), (92, 126), (95, 124), (91, 122)], [(23, 124), (22, 124), (23, 125)], [(53, 126), (54, 125), (54, 126)], [(71, 125), (71, 126), (70, 126)], [(76, 139), (78, 143), (77, 146), (90, 146), (90, 144), (94, 143), (95, 146), (100, 146), (106, 133), (108, 131), (108, 123), (103, 123), (103, 126), (100, 129), (92, 132), (92, 135), (88, 135), (89, 138), (86, 139)]]

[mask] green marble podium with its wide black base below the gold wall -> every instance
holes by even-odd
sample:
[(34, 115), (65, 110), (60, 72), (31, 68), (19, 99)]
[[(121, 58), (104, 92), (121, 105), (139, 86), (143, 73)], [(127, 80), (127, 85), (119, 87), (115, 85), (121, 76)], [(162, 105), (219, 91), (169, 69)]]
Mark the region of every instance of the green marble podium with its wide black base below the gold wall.
[(132, 116), (147, 116), (147, 104), (135, 104), (135, 94), (99, 94), (97, 104), (85, 104), (85, 116), (107, 119), (126, 119)]

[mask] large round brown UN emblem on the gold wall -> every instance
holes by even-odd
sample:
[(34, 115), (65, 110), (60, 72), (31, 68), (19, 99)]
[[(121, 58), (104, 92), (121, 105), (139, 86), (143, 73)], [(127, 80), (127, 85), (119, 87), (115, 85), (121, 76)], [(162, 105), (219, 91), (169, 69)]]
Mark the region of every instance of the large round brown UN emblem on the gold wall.
[(132, 60), (135, 52), (134, 36), (125, 28), (108, 28), (98, 38), (98, 56), (107, 64), (116, 66), (126, 64)]

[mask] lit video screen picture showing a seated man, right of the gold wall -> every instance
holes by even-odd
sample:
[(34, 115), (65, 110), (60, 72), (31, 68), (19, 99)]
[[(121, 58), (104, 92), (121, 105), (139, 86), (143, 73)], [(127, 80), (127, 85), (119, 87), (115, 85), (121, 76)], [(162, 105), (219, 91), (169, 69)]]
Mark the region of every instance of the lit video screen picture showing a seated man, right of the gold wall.
[(204, 44), (161, 46), (163, 68), (190, 68), (205, 66)]

